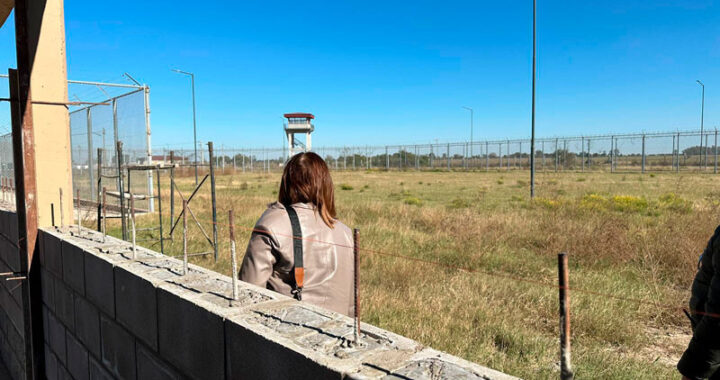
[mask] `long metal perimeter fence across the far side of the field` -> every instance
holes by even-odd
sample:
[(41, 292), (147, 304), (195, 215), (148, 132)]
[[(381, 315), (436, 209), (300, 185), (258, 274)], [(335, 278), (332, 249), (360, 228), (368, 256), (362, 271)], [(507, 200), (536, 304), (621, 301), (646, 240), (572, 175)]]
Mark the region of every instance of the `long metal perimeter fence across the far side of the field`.
[[(535, 165), (540, 171), (717, 173), (717, 130), (676, 131), (540, 138)], [(701, 147), (702, 143), (702, 147)], [(156, 159), (194, 165), (191, 148), (156, 147)], [(287, 159), (282, 148), (216, 148), (220, 171), (280, 171)], [(494, 140), (443, 144), (315, 147), (335, 170), (529, 170), (530, 140)], [(162, 153), (160, 153), (162, 152)], [(159, 157), (162, 155), (162, 157)], [(208, 158), (202, 155), (198, 164)]]

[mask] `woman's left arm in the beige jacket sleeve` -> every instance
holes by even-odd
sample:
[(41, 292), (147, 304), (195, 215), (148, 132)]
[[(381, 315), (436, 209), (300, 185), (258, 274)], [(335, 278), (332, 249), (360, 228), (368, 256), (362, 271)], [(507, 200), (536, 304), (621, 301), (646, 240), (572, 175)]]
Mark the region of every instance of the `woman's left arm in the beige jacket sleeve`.
[(266, 287), (276, 262), (273, 248), (277, 246), (272, 231), (267, 227), (256, 225), (240, 268), (240, 281)]

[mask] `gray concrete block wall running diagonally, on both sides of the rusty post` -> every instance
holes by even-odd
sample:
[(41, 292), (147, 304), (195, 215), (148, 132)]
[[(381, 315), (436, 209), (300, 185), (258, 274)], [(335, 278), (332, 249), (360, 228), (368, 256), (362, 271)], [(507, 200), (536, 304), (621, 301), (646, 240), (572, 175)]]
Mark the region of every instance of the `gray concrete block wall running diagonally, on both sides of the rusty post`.
[[(145, 249), (132, 260), (94, 231), (49, 228), (38, 244), (48, 379), (512, 379), (366, 324), (353, 345), (350, 318), (250, 284), (231, 302), (229, 277), (193, 265), (183, 276), (181, 261)], [(12, 367), (22, 328), (7, 286), (0, 348)]]

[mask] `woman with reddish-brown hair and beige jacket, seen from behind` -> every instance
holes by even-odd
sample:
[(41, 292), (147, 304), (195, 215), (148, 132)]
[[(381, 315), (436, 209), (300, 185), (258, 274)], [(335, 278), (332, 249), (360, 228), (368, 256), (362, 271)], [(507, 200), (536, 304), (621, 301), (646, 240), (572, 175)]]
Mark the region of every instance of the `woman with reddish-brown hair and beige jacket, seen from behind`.
[(255, 225), (240, 280), (351, 315), (353, 240), (335, 219), (335, 193), (325, 161), (300, 153), (283, 171), (278, 201)]

